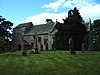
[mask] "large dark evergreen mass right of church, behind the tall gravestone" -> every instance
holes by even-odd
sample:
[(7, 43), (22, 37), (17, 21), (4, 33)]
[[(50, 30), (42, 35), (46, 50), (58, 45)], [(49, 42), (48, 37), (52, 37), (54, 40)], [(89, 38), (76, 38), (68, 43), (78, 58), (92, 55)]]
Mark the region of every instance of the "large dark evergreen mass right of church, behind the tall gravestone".
[(56, 46), (60, 47), (57, 49), (69, 49), (69, 39), (72, 38), (73, 48), (71, 48), (81, 50), (87, 30), (78, 9), (75, 7), (73, 10), (69, 10), (68, 18), (63, 19), (63, 21), (63, 24), (59, 22), (56, 24), (58, 32), (55, 35), (55, 43)]

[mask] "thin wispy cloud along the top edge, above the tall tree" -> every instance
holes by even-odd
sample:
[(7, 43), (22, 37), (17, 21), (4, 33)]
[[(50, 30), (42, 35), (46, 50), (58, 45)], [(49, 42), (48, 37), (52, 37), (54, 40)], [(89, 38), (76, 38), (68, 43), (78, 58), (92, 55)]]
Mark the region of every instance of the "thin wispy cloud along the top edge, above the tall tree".
[(58, 11), (59, 8), (82, 8), (84, 6), (95, 5), (95, 0), (57, 0), (55, 2), (50, 2), (49, 4), (45, 4), (42, 8), (53, 9), (55, 12)]

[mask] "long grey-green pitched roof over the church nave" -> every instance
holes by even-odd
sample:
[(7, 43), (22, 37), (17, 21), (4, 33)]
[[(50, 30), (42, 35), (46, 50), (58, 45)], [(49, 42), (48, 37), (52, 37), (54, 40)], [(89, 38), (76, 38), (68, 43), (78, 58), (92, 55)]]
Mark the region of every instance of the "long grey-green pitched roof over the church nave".
[(25, 35), (36, 35), (36, 34), (46, 34), (49, 33), (54, 27), (55, 23), (46, 23), (41, 25), (33, 26), (30, 31), (28, 31)]

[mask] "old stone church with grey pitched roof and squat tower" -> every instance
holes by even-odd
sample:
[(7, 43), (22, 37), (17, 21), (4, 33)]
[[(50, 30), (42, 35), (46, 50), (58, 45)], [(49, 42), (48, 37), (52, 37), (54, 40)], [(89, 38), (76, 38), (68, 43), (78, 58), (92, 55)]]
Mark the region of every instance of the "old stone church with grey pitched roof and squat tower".
[(54, 49), (54, 28), (56, 23), (51, 20), (46, 24), (33, 25), (32, 22), (19, 24), (13, 29), (13, 47), (15, 50)]

